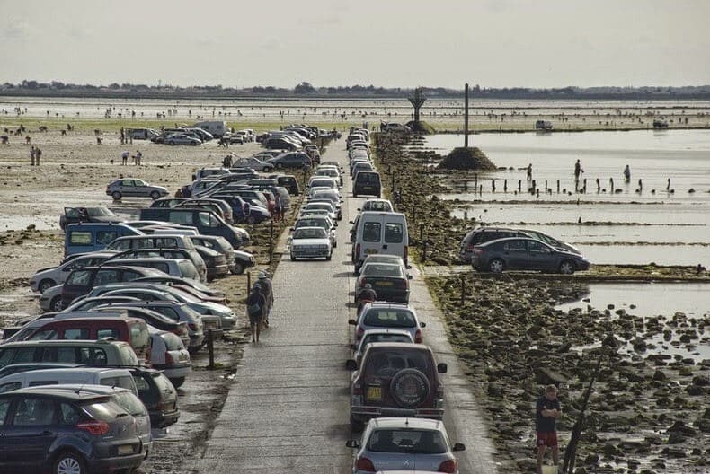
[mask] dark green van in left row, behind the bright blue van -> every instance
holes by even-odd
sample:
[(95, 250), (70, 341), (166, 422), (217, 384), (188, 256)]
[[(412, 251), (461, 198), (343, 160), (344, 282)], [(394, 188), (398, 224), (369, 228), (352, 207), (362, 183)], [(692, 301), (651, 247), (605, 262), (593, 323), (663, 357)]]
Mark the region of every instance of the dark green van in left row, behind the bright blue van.
[[(212, 211), (192, 208), (160, 209), (149, 207), (140, 210), (140, 218), (146, 220), (156, 220), (171, 222), (175, 224), (191, 225), (203, 235), (217, 235), (224, 237), (232, 247), (238, 249), (249, 241), (249, 234), (245, 231), (237, 231), (234, 227), (226, 224), (224, 219)], [(163, 236), (164, 237), (164, 236)], [(194, 247), (194, 246), (192, 246)]]

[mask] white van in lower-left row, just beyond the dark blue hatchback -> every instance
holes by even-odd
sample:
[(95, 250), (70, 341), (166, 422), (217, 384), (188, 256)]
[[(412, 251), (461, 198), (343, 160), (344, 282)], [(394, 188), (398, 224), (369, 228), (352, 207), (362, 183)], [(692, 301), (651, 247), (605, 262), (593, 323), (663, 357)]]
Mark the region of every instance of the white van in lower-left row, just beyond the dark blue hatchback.
[(110, 369), (106, 367), (42, 369), (13, 373), (0, 379), (0, 393), (37, 385), (57, 385), (60, 383), (120, 387), (132, 391), (134, 395), (138, 395), (136, 382), (128, 369)]

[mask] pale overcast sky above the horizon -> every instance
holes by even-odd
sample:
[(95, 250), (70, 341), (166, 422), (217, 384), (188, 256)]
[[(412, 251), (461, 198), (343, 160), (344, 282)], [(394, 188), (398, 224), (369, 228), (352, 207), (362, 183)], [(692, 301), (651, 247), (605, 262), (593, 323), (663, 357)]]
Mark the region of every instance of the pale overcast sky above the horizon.
[(0, 83), (710, 84), (710, 0), (0, 0)]

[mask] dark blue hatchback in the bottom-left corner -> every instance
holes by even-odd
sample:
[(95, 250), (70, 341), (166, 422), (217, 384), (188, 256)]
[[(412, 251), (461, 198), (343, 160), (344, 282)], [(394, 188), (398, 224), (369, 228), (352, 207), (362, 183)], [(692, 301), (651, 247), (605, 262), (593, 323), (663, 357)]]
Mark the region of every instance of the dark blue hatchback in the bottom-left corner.
[(0, 471), (114, 472), (144, 459), (136, 420), (109, 397), (49, 386), (0, 394)]

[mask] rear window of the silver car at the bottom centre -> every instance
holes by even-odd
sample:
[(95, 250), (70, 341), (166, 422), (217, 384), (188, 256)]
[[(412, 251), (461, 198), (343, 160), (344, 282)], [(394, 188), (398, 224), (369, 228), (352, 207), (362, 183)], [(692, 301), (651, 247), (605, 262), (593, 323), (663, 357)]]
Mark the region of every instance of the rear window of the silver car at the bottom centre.
[(370, 434), (368, 451), (407, 454), (443, 454), (448, 452), (443, 434), (418, 429), (379, 429)]

